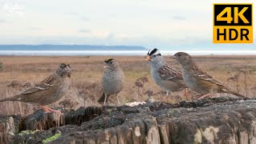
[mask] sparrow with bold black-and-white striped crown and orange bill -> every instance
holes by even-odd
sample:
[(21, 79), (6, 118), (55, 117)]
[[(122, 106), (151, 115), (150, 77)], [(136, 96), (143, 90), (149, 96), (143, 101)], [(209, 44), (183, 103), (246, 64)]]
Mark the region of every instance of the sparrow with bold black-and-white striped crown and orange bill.
[(182, 73), (167, 65), (158, 49), (154, 48), (149, 50), (146, 61), (150, 62), (154, 82), (162, 88), (162, 90), (166, 90), (166, 96), (168, 96), (170, 92), (186, 89), (187, 86), (183, 81)]

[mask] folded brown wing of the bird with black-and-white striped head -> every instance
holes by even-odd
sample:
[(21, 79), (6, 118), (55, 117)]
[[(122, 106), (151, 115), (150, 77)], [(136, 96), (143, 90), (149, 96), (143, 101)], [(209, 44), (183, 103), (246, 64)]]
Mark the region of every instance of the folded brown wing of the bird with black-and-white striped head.
[(162, 80), (167, 81), (183, 81), (182, 78), (182, 72), (178, 70), (174, 70), (174, 68), (168, 66), (167, 64), (164, 64), (159, 70), (158, 70), (159, 77)]

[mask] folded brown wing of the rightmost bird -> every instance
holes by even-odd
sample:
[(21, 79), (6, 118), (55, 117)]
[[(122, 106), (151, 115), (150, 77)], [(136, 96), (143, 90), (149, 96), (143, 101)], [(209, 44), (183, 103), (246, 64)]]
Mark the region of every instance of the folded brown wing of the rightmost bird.
[(214, 76), (208, 74), (206, 70), (202, 70), (198, 66), (193, 67), (194, 70), (191, 70), (191, 72), (194, 74), (194, 77), (202, 79), (207, 82), (211, 82), (220, 86), (224, 86), (222, 82), (218, 81), (218, 79), (214, 78)]

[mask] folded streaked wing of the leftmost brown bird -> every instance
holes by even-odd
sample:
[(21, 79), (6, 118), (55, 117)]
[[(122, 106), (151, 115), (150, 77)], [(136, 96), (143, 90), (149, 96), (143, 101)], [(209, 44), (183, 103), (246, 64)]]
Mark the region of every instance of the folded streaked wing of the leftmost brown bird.
[(42, 91), (42, 90), (47, 90), (50, 87), (54, 86), (54, 76), (50, 75), (50, 77), (46, 78), (45, 80), (43, 80), (42, 82), (35, 84), (33, 87), (30, 87), (26, 90), (24, 90), (21, 94), (32, 94), (38, 91)]

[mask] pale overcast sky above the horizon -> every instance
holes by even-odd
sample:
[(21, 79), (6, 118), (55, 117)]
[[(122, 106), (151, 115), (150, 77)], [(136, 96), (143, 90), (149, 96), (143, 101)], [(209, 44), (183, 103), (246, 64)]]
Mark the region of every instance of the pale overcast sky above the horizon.
[[(214, 2), (242, 1), (0, 0), (0, 44), (218, 47), (212, 44)], [(243, 2), (254, 3), (255, 24), (255, 0)], [(254, 27), (254, 43), (255, 34)]]

